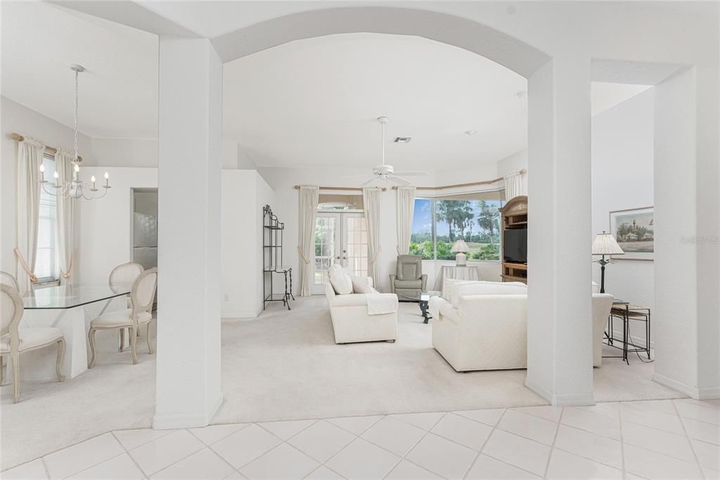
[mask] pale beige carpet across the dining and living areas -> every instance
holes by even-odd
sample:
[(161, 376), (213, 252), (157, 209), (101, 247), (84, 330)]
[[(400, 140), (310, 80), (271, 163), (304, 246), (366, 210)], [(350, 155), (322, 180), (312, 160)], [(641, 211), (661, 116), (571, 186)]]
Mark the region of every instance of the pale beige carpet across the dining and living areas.
[[(431, 347), (431, 325), (413, 303), (400, 304), (399, 339), (335, 345), (324, 297), (274, 304), (259, 319), (222, 326), (225, 403), (213, 423), (437, 412), (544, 404), (523, 386), (524, 370), (456, 373)], [(103, 332), (101, 332), (103, 333)], [(1, 388), (4, 470), (109, 430), (150, 427), (155, 356), (140, 363), (99, 335), (97, 366), (65, 383)], [(145, 339), (139, 345), (143, 345)], [(611, 352), (614, 355), (614, 352)], [(598, 401), (680, 398), (650, 381), (652, 364), (606, 360), (595, 369)]]

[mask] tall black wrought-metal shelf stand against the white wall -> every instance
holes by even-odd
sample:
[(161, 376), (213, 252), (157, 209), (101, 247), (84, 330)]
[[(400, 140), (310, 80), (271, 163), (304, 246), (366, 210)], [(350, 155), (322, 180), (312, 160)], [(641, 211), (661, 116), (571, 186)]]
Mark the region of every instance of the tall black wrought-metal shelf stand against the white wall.
[[(290, 309), (292, 295), (292, 267), (282, 263), (282, 234), (285, 224), (272, 213), (270, 205), (263, 208), (263, 310), (268, 302), (282, 301)], [(275, 293), (273, 275), (282, 275), (284, 292)]]

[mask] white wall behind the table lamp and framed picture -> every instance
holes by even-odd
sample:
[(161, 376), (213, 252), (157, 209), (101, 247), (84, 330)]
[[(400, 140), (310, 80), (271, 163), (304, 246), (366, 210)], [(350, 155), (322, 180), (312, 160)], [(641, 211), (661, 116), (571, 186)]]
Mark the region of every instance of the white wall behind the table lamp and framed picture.
[[(609, 212), (654, 204), (654, 89), (593, 117), (593, 236), (610, 231)], [(654, 308), (654, 264), (620, 259), (605, 271), (605, 290)], [(600, 283), (600, 266), (593, 264)], [(637, 323), (637, 322), (634, 322)], [(642, 325), (634, 325), (644, 339)], [(621, 330), (619, 330), (621, 332)], [(634, 332), (635, 334), (635, 332)]]

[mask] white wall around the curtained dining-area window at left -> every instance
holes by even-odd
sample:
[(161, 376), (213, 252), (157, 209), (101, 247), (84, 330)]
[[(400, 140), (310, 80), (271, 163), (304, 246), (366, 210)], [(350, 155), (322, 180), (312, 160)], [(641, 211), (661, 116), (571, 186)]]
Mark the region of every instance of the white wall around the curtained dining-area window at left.
[[(15, 229), (15, 195), (16, 195), (16, 164), (17, 142), (9, 138), (10, 133), (30, 135), (42, 141), (47, 146), (55, 148), (73, 149), (73, 129), (62, 125), (55, 120), (40, 115), (17, 102), (6, 97), (0, 98), (2, 156), (0, 163), (0, 210), (2, 213), (2, 228), (0, 228), (0, 269), (12, 272), (14, 275), (25, 275), (24, 270), (17, 270), (17, 262), (13, 249), (16, 246)], [(78, 135), (78, 151), (84, 162), (91, 157), (91, 141), (86, 135)], [(81, 170), (83, 177), (89, 179), (86, 169)], [(100, 177), (99, 177), (100, 178)], [(76, 241), (79, 234), (76, 231)], [(78, 264), (75, 263), (75, 267)]]

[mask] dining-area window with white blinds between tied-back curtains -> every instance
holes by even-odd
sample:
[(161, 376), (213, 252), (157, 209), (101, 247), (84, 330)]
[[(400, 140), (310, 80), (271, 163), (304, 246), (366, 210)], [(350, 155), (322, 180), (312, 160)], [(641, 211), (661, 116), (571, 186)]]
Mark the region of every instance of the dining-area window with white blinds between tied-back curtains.
[[(55, 160), (45, 156), (45, 178), (53, 178)], [(58, 255), (56, 230), (58, 227), (58, 209), (55, 195), (49, 195), (40, 188), (40, 217), (37, 221), (37, 251), (35, 252), (35, 276), (38, 283), (58, 280)]]

